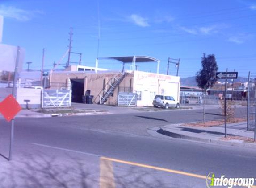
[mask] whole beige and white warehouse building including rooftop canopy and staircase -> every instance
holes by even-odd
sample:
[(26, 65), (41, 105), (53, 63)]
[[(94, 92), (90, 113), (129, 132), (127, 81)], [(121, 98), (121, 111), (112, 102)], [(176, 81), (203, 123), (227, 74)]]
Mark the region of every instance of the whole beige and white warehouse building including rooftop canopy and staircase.
[[(168, 94), (179, 101), (180, 77), (159, 74), (159, 60), (146, 56), (109, 58), (121, 62), (123, 69), (121, 71), (100, 69), (99, 59), (94, 70), (81, 65), (77, 67), (72, 65), (73, 67), (66, 71), (50, 74), (50, 88), (70, 87), (72, 102), (83, 102), (84, 96), (92, 95), (92, 102), (95, 104), (119, 105), (120, 100), (129, 94), (133, 97), (127, 102), (128, 105), (136, 99), (136, 106), (152, 106), (156, 94)], [(133, 69), (126, 71), (124, 65), (128, 62), (132, 63)], [(135, 70), (136, 62), (156, 62), (157, 73)]]

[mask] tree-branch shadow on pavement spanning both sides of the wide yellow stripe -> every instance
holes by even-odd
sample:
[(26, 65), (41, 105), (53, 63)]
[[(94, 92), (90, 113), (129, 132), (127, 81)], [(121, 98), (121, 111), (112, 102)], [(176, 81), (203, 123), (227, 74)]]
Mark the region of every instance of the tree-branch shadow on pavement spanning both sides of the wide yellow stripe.
[[(1, 163), (0, 188), (99, 188), (98, 158), (94, 158), (95, 163), (92, 163), (83, 156), (68, 154), (60, 157), (43, 153), (20, 156), (19, 159)], [(114, 184), (118, 188), (178, 187), (173, 186), (174, 183), (164, 183), (162, 176), (155, 176), (158, 174), (155, 170), (119, 166), (119, 163), (113, 165)]]

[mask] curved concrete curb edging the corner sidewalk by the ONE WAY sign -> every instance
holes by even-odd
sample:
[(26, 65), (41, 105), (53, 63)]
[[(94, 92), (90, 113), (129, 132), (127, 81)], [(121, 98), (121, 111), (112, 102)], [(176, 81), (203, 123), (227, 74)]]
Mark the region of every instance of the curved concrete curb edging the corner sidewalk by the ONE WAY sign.
[(245, 143), (241, 140), (219, 140), (219, 139), (204, 139), (196, 136), (189, 136), (189, 135), (183, 135), (180, 133), (176, 132), (171, 132), (163, 129), (162, 127), (157, 130), (158, 133), (162, 135), (166, 135), (172, 138), (177, 138), (177, 139), (186, 139), (186, 140), (192, 140), (192, 141), (197, 141), (197, 142), (202, 142), (202, 143), (213, 143), (216, 145), (225, 145), (225, 146), (237, 146), (237, 147), (249, 147), (249, 148), (256, 148), (255, 143)]

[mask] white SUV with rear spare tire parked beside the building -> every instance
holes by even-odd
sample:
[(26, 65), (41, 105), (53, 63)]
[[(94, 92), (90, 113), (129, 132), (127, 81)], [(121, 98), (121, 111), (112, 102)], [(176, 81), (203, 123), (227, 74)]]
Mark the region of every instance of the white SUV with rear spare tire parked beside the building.
[(164, 107), (165, 109), (180, 107), (179, 102), (177, 102), (172, 96), (167, 95), (155, 95), (153, 105), (154, 107)]

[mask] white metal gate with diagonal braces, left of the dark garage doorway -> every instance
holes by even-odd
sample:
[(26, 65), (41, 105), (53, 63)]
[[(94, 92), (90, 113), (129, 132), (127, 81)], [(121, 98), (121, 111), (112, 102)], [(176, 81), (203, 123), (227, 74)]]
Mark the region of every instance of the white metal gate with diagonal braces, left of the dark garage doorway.
[(71, 106), (71, 90), (42, 90), (42, 108)]

